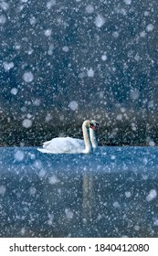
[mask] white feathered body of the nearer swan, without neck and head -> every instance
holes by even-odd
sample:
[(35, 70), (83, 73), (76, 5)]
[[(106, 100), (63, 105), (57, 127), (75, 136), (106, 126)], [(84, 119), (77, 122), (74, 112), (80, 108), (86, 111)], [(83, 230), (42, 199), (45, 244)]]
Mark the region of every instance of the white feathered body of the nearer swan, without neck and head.
[(81, 153), (84, 150), (84, 141), (74, 139), (70, 137), (55, 138), (43, 144), (43, 149), (40, 150), (43, 153), (54, 153), (54, 154), (75, 154)]

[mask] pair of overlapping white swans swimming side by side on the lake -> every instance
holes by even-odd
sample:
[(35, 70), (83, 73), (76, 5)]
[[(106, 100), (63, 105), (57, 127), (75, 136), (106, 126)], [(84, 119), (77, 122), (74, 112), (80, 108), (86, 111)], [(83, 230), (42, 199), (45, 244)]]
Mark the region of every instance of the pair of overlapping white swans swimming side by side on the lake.
[(91, 150), (98, 147), (95, 130), (99, 123), (95, 120), (86, 120), (82, 124), (84, 140), (58, 137), (43, 144), (43, 148), (37, 148), (38, 151), (48, 154), (89, 154)]

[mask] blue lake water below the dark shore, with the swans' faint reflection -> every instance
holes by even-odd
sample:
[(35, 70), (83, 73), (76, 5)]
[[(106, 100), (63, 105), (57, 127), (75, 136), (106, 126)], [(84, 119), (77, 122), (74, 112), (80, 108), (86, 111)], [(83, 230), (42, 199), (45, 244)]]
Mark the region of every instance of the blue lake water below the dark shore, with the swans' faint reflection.
[(158, 237), (158, 148), (0, 148), (0, 237)]

